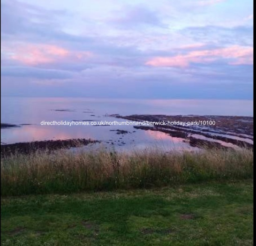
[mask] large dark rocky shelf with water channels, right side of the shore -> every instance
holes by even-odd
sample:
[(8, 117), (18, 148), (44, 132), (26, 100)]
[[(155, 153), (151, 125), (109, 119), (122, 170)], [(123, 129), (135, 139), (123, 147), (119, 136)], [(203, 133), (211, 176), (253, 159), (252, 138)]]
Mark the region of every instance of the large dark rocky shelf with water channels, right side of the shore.
[[(172, 137), (182, 138), (190, 146), (203, 149), (224, 148), (233, 146), (253, 148), (253, 117), (241, 116), (198, 116), (198, 115), (112, 115), (116, 118), (147, 122), (210, 122), (215, 125), (153, 125), (134, 126), (136, 129), (159, 131)], [(232, 146), (233, 145), (233, 146)]]

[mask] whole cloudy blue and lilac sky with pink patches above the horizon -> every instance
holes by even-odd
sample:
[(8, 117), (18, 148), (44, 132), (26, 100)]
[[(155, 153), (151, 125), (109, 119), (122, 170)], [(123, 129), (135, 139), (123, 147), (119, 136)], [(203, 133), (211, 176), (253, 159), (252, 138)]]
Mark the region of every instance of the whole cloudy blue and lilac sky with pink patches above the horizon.
[(1, 0), (1, 96), (253, 99), (253, 0)]

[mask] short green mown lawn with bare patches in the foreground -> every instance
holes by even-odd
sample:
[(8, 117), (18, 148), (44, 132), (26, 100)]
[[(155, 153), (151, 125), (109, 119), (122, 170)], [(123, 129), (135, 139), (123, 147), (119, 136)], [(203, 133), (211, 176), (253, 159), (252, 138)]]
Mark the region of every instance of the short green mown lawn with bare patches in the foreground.
[(1, 199), (2, 246), (250, 246), (253, 180)]

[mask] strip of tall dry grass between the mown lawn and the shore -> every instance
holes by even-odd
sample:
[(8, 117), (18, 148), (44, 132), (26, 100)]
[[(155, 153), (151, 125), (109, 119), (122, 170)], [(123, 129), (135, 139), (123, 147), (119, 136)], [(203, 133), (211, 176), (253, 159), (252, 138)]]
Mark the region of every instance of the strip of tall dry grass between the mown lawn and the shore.
[(1, 158), (1, 196), (166, 186), (253, 176), (249, 149), (37, 152)]

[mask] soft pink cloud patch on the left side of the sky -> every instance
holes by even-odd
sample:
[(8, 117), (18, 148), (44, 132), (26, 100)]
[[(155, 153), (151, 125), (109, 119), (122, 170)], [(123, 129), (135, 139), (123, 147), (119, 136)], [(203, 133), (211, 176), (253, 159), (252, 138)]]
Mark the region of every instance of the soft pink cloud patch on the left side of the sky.
[(57, 45), (46, 44), (25, 44), (17, 47), (5, 45), (3, 52), (8, 54), (9, 59), (31, 66), (53, 63), (63, 59), (68, 59), (69, 61), (81, 60), (92, 56), (91, 52), (69, 51)]

